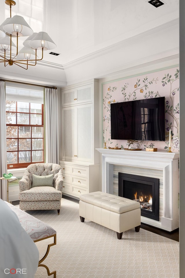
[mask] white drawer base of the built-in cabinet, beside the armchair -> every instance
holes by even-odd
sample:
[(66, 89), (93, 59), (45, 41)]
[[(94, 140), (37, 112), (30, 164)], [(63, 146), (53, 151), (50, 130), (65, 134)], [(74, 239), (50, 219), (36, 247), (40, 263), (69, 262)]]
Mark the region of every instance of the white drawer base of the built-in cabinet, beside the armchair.
[(64, 183), (62, 193), (79, 197), (80, 194), (99, 191), (99, 164), (74, 164), (60, 161)]

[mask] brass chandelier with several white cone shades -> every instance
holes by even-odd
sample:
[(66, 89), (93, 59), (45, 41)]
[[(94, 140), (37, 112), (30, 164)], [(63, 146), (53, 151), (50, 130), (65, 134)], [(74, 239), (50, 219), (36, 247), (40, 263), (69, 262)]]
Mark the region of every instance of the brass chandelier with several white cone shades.
[[(35, 66), (37, 61), (43, 59), (43, 51), (51, 50), (56, 47), (50, 36), (46, 32), (34, 33), (23, 17), (11, 16), (11, 7), (16, 5), (13, 0), (6, 0), (10, 6), (10, 17), (0, 25), (0, 63), (7, 65), (18, 65), (23, 69), (28, 69), (28, 65)], [(28, 36), (23, 42), (23, 48), (18, 51), (18, 37)], [(16, 38), (16, 45), (12, 38)], [(38, 59), (37, 50), (42, 51), (42, 58)], [(13, 52), (12, 52), (13, 51)], [(16, 54), (13, 54), (15, 53)], [(30, 63), (31, 62), (31, 63)]]

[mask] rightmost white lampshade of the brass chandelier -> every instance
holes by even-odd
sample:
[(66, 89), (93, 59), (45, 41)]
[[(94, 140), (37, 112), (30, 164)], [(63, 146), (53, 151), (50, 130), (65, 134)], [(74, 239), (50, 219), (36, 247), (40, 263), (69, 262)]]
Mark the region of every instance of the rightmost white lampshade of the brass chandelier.
[(38, 50), (51, 50), (56, 47), (56, 44), (46, 32), (38, 32), (38, 34), (29, 42), (29, 45)]

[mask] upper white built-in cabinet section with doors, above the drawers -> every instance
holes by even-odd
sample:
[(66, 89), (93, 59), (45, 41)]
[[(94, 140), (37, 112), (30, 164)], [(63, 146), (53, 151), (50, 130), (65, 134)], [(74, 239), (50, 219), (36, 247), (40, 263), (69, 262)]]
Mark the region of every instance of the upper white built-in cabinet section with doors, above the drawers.
[(98, 164), (98, 82), (93, 79), (61, 93), (62, 160)]

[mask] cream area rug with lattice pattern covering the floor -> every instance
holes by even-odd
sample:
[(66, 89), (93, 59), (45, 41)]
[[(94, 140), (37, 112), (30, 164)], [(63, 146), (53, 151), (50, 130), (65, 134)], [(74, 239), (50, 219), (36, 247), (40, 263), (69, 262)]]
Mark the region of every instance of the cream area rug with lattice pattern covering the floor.
[[(179, 242), (144, 229), (126, 231), (119, 240), (108, 228), (80, 222), (78, 210), (79, 204), (62, 198), (60, 215), (27, 211), (57, 231), (57, 244), (44, 261), (57, 278), (179, 278)], [(47, 242), (36, 243), (40, 256)], [(35, 278), (45, 277), (39, 267)]]

